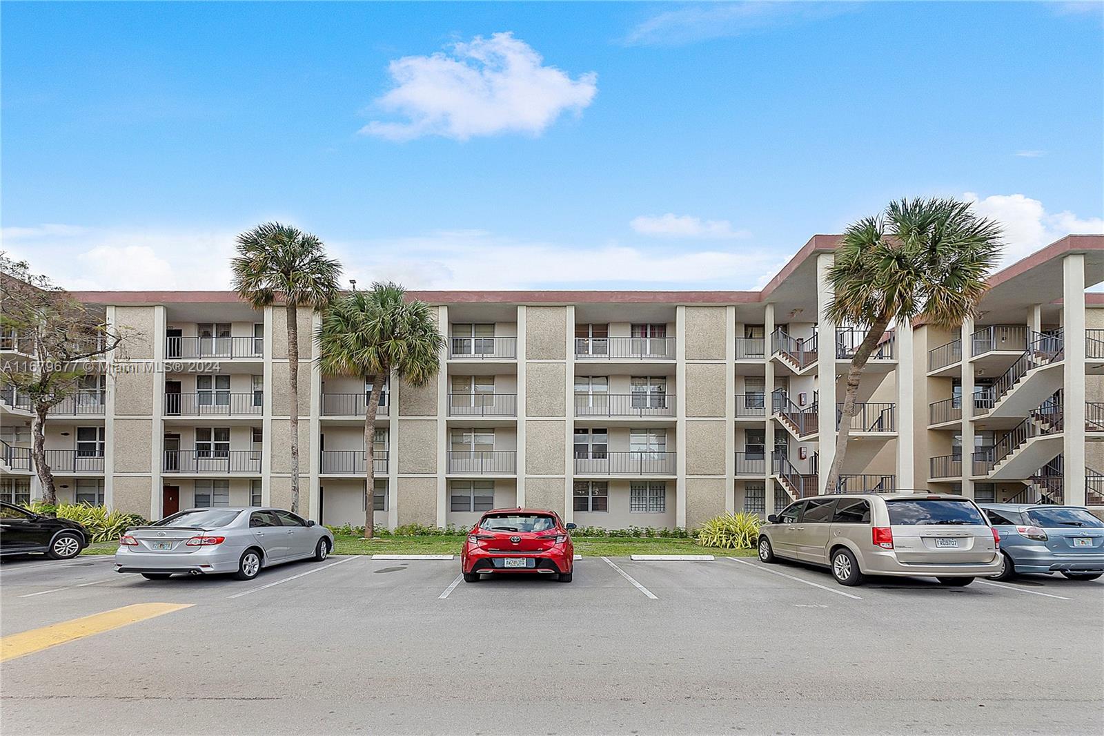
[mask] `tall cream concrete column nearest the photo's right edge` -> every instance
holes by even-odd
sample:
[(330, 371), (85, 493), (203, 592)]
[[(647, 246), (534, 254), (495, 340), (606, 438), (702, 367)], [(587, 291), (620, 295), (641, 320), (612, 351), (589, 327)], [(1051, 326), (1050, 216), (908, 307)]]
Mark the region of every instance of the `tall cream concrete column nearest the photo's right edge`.
[(1085, 256), (1062, 259), (1062, 462), (1065, 503), (1085, 505)]

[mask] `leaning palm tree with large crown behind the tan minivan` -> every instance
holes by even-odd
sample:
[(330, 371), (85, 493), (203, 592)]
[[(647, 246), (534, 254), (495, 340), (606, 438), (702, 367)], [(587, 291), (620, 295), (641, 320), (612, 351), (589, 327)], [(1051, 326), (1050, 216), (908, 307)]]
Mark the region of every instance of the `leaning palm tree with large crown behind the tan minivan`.
[(891, 322), (910, 328), (912, 319), (954, 327), (977, 312), (996, 265), (1000, 225), (955, 199), (891, 202), (881, 215), (849, 225), (828, 270), (835, 324), (867, 328), (847, 370), (836, 455), (825, 493), (836, 491), (859, 381), (870, 355)]

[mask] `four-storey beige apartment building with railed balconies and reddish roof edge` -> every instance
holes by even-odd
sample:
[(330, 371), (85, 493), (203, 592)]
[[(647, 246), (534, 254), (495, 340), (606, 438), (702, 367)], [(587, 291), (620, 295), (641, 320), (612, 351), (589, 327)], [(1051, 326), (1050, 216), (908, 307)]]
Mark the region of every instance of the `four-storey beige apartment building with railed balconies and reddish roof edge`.
[[(754, 292), (418, 292), (440, 371), (389, 381), (363, 479), (370, 387), (321, 375), (300, 315), (300, 511), (325, 524), (465, 525), (498, 506), (580, 525), (692, 527), (825, 486), (843, 374), (816, 235)], [(1104, 236), (997, 273), (955, 330), (895, 325), (868, 365), (839, 490), (935, 488), (1104, 509)], [(159, 518), (290, 504), (285, 312), (230, 292), (79, 293), (139, 339), (47, 422), (63, 501)], [(0, 357), (19, 356), (19, 336)], [(0, 389), (0, 492), (39, 495), (25, 398)]]

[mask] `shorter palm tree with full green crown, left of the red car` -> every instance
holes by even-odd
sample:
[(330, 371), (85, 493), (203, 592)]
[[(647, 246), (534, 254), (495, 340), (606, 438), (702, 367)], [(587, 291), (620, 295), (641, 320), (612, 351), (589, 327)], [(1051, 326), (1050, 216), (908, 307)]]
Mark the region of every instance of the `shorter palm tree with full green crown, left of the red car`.
[(371, 382), (364, 411), (365, 492), (364, 538), (374, 534), (372, 491), (375, 486), (375, 414), (384, 379), (394, 376), (412, 386), (425, 386), (440, 366), (445, 338), (429, 306), (406, 299), (402, 286), (372, 284), (335, 299), (322, 314), (318, 330), (318, 362), (323, 374), (355, 376)]

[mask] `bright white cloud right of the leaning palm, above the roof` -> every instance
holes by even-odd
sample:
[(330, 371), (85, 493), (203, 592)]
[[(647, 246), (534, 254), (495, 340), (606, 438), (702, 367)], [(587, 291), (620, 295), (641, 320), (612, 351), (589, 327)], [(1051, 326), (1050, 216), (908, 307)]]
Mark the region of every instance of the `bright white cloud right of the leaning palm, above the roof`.
[(1006, 245), (1002, 266), (1065, 235), (1104, 233), (1102, 218), (1083, 219), (1068, 210), (1047, 212), (1042, 202), (1023, 194), (991, 194), (980, 199), (968, 191), (963, 199), (973, 202), (978, 214), (1004, 225)]

